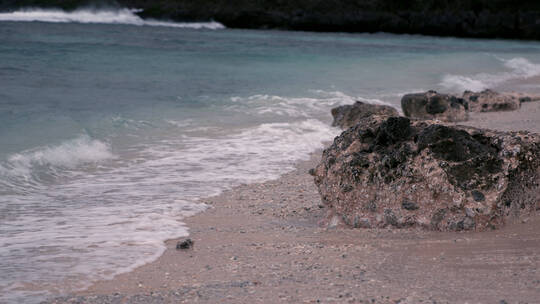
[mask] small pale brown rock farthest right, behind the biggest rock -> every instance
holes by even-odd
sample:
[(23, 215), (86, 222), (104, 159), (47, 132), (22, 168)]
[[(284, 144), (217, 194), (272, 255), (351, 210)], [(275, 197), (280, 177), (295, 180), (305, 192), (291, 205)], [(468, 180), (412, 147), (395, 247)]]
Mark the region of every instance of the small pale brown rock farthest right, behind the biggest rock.
[(471, 112), (514, 111), (521, 106), (520, 98), (514, 94), (501, 94), (492, 90), (482, 92), (465, 91), (463, 99)]

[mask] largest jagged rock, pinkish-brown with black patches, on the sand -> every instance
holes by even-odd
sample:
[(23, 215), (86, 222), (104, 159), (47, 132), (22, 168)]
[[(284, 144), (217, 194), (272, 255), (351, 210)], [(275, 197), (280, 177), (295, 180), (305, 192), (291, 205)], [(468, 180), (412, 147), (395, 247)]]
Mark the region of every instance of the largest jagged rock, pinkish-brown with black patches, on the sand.
[(539, 207), (539, 155), (537, 134), (375, 117), (336, 137), (314, 179), (352, 227), (485, 230)]

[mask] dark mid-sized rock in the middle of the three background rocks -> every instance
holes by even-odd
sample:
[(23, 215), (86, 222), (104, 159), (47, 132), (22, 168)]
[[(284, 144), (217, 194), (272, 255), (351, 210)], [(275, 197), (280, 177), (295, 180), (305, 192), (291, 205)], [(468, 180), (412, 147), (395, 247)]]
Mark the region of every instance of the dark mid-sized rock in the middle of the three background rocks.
[(418, 119), (465, 121), (468, 119), (467, 103), (455, 96), (435, 91), (407, 94), (401, 99), (403, 114)]

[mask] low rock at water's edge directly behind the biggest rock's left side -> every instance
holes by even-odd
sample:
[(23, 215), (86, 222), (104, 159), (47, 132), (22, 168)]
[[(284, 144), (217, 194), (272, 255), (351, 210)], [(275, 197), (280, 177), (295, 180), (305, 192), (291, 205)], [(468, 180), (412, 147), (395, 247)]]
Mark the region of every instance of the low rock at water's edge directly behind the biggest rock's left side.
[(368, 104), (357, 101), (353, 105), (345, 105), (332, 109), (334, 122), (332, 126), (348, 129), (359, 123), (362, 119), (372, 115), (380, 115), (386, 118), (391, 116), (399, 116), (396, 109), (385, 105)]

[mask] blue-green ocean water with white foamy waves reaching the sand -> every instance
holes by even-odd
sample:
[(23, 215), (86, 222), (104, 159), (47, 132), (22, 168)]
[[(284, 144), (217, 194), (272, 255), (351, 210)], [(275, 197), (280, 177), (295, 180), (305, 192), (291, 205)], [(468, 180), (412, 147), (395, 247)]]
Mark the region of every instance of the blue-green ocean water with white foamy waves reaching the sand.
[(155, 260), (201, 199), (279, 177), (332, 107), (540, 92), (540, 43), (230, 30), (132, 10), (0, 13), (0, 303)]

